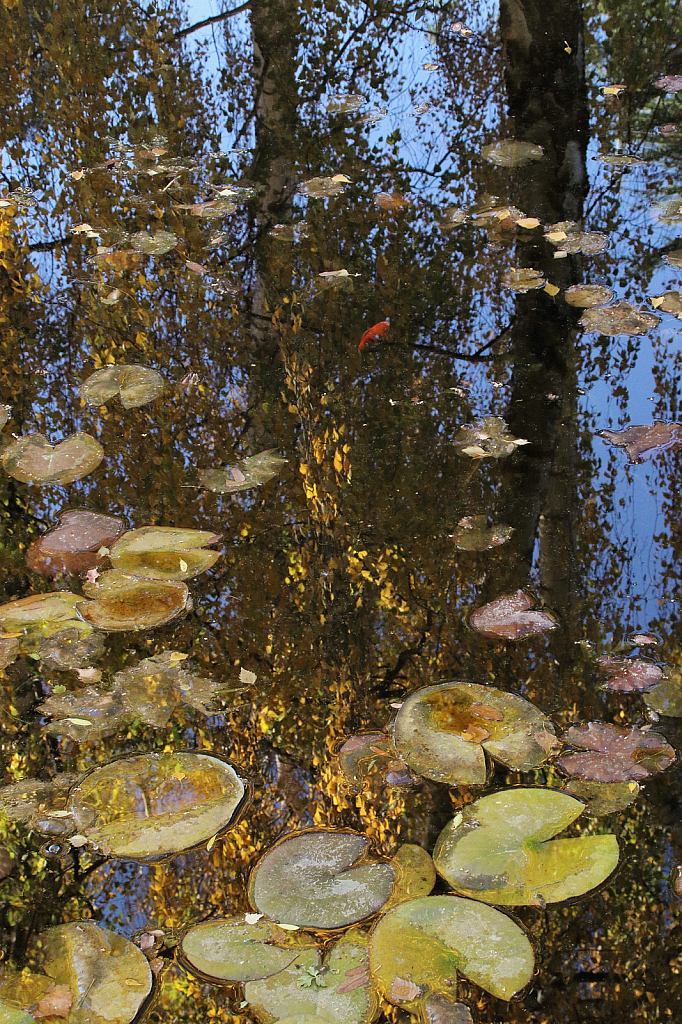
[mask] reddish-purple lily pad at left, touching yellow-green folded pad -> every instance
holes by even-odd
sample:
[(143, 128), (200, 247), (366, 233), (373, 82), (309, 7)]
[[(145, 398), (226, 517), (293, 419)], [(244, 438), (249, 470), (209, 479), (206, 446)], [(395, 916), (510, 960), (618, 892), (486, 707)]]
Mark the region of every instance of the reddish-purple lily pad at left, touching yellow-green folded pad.
[(58, 526), (43, 534), (29, 547), (26, 563), (34, 572), (85, 572), (103, 564), (109, 548), (123, 532), (123, 523), (85, 509), (62, 512)]

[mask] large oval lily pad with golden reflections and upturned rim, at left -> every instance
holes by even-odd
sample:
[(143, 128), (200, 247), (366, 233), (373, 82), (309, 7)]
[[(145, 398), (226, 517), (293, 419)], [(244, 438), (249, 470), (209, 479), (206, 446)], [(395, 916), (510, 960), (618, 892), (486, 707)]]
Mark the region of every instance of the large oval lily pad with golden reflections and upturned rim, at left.
[(102, 853), (158, 859), (225, 829), (246, 787), (207, 754), (140, 754), (93, 768), (69, 798), (80, 831)]

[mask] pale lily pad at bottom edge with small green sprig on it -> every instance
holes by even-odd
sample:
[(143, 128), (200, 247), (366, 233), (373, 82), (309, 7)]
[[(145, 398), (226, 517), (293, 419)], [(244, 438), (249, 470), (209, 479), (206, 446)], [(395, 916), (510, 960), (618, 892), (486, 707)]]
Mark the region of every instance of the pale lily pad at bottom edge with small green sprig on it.
[(317, 948), (303, 949), (280, 974), (247, 982), (244, 995), (262, 1024), (276, 1020), (302, 1024), (367, 1024), (377, 1010), (370, 984), (368, 936), (352, 929), (323, 961)]

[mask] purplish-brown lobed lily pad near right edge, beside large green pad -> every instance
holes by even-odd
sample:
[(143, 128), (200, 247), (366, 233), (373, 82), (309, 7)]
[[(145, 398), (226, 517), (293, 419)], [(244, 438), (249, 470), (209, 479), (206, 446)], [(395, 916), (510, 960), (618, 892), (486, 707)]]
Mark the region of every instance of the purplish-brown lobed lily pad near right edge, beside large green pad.
[(561, 739), (584, 753), (564, 754), (559, 765), (568, 775), (597, 782), (629, 782), (664, 771), (675, 751), (657, 732), (633, 725), (624, 729), (604, 722), (571, 726)]

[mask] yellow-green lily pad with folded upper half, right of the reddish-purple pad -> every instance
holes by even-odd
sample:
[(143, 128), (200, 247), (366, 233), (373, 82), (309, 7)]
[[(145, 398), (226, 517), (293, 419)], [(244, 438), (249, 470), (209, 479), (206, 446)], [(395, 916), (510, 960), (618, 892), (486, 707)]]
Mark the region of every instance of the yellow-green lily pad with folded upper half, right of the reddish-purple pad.
[(142, 526), (131, 529), (111, 551), (112, 565), (126, 575), (143, 580), (188, 580), (217, 562), (219, 551), (203, 551), (215, 544), (219, 534), (174, 526)]

